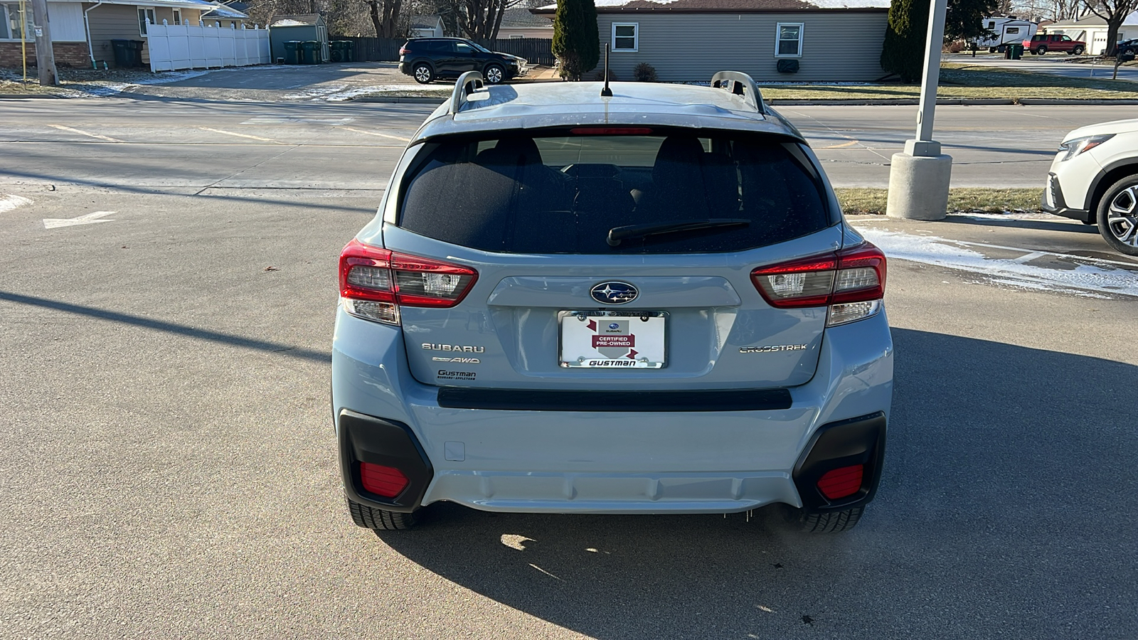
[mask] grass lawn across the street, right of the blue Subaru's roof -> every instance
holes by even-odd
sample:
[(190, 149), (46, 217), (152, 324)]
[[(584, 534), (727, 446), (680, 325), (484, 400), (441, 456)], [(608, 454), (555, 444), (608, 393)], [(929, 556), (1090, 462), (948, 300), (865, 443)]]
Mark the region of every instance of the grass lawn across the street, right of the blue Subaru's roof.
[[(918, 98), (920, 84), (765, 84), (770, 100), (882, 100)], [(942, 63), (938, 98), (1138, 99), (1138, 83), (1125, 80), (1062, 77), (964, 63)]]

